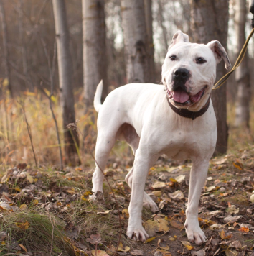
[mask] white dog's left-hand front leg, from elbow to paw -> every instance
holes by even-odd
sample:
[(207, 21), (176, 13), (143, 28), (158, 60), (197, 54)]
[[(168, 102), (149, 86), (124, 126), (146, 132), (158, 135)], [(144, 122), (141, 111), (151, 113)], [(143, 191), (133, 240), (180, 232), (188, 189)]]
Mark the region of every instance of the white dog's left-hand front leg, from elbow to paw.
[(142, 227), (142, 206), (146, 177), (151, 165), (158, 157), (149, 156), (140, 149), (136, 151), (134, 160), (133, 180), (131, 188), (131, 202), (128, 207), (130, 218), (128, 220), (127, 236), (130, 239), (146, 241), (149, 235)]

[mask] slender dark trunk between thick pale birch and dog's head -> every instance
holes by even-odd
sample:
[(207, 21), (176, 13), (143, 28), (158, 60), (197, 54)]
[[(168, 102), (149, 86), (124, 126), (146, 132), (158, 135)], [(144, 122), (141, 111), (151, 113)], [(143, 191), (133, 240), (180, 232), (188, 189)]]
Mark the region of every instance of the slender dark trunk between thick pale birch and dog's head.
[(152, 16), (151, 4), (152, 4), (152, 0), (144, 0), (145, 17), (146, 17), (146, 34), (148, 36), (148, 50), (149, 50), (149, 83), (155, 83), (153, 16)]

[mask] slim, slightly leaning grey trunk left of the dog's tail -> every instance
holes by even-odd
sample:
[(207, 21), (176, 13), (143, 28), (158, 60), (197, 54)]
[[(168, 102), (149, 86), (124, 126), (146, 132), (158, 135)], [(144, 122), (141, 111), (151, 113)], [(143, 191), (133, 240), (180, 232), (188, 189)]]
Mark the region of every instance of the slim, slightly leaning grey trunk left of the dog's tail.
[(70, 132), (67, 124), (75, 122), (74, 96), (72, 91), (72, 59), (69, 49), (69, 32), (64, 0), (52, 0), (57, 40), (57, 61), (60, 82), (60, 101), (62, 105), (63, 127), (65, 129), (65, 157), (67, 162), (75, 165), (77, 161), (76, 132)]

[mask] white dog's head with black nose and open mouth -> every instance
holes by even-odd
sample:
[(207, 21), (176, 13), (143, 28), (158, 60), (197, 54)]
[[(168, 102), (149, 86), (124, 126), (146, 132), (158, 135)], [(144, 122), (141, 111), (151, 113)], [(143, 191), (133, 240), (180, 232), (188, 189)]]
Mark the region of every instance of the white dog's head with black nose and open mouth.
[(174, 34), (162, 65), (162, 81), (171, 104), (191, 111), (202, 109), (215, 83), (216, 65), (222, 59), (230, 70), (230, 60), (220, 42), (190, 43), (182, 31)]

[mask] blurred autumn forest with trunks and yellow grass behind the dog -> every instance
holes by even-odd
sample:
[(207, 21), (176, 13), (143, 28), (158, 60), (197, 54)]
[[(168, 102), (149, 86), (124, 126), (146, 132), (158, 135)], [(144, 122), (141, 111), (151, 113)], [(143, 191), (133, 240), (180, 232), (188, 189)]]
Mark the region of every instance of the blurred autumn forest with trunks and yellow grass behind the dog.
[[(100, 79), (104, 98), (126, 83), (160, 83), (179, 29), (190, 42), (219, 40), (234, 64), (252, 18), (245, 0), (0, 0), (0, 16), (3, 168), (19, 162), (89, 165)], [(253, 143), (253, 58), (250, 40), (240, 68), (213, 92), (216, 154)], [(220, 63), (217, 78), (224, 74)], [(125, 160), (131, 151), (119, 142), (113, 154)]]

